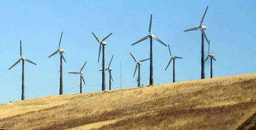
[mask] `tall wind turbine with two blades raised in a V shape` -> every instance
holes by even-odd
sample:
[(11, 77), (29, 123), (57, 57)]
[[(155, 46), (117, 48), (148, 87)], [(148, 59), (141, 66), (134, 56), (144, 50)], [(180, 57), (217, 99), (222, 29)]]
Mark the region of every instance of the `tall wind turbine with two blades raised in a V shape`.
[[(102, 70), (105, 69), (105, 45), (108, 44), (108, 42), (105, 42), (105, 40), (112, 35), (109, 34), (105, 38), (102, 39), (102, 41), (99, 40), (99, 38), (92, 33), (95, 39), (99, 42), (99, 56), (100, 56), (100, 50), (101, 50), (101, 45), (102, 45)], [(98, 56), (98, 63), (99, 63), (99, 56)], [(104, 91), (106, 89), (106, 84), (105, 84), (105, 71), (102, 71), (102, 85), (101, 85), (101, 90)]]

